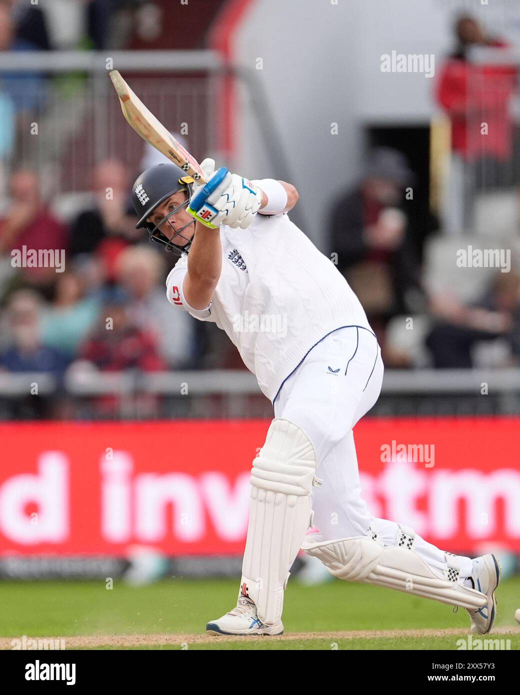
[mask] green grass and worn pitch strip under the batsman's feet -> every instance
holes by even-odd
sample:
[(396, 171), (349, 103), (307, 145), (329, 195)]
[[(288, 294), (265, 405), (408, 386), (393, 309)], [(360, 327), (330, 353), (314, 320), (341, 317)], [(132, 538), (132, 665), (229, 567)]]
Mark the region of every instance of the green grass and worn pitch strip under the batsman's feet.
[[(0, 582), (0, 648), (26, 635), (61, 637), (76, 649), (439, 649), (468, 635), (460, 608), (368, 584), (334, 580), (317, 587), (289, 582), (283, 637), (205, 635), (206, 622), (231, 610), (238, 582), (163, 580), (133, 588), (114, 582)], [(501, 583), (496, 630), (520, 648), (520, 578)], [(473, 639), (479, 637), (474, 636)]]

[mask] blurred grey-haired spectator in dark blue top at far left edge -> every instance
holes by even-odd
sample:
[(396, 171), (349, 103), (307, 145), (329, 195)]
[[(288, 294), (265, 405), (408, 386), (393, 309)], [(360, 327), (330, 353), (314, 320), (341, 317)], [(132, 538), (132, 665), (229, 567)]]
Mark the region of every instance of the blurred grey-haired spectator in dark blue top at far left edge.
[(6, 308), (10, 345), (0, 355), (0, 368), (10, 372), (46, 372), (60, 377), (69, 360), (54, 347), (43, 345), (40, 298), (31, 290), (10, 296)]

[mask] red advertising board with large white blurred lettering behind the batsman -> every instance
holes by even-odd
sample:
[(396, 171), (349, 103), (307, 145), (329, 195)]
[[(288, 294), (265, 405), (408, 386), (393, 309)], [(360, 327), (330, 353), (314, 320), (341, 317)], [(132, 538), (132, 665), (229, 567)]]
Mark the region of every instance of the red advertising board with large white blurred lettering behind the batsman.
[[(1, 425), (0, 554), (241, 553), (266, 420)], [(444, 550), (520, 551), (519, 418), (364, 420), (373, 514)]]

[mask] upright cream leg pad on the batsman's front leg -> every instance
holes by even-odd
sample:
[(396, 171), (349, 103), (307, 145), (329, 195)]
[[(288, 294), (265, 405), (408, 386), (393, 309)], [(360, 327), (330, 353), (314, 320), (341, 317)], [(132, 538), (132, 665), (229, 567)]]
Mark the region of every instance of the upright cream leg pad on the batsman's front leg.
[(298, 425), (275, 418), (253, 461), (241, 582), (267, 625), (282, 616), (289, 569), (309, 528), (312, 486), (320, 484), (315, 472), (313, 443)]

